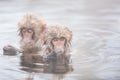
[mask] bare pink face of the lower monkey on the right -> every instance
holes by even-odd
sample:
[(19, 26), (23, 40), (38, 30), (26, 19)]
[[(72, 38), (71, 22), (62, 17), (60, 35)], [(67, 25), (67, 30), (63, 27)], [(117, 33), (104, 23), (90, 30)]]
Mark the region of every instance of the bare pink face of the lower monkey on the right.
[(52, 39), (52, 44), (53, 44), (54, 48), (64, 48), (64, 46), (65, 46), (65, 38), (64, 37), (53, 38)]

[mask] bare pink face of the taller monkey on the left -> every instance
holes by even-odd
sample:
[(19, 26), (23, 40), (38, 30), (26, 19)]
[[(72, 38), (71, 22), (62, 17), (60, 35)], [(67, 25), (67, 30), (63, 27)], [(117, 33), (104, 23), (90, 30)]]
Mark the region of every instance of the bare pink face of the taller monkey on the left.
[(24, 40), (32, 40), (32, 36), (33, 36), (33, 30), (32, 29), (27, 29), (27, 28), (25, 28), (25, 29), (23, 29), (22, 30), (22, 35), (23, 35), (23, 39)]

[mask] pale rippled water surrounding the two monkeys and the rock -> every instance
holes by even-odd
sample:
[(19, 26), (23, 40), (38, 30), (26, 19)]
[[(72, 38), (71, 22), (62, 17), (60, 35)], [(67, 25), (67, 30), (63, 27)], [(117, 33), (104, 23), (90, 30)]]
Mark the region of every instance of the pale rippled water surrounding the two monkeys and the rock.
[[(119, 0), (0, 0), (0, 80), (27, 80), (18, 56), (3, 56), (4, 45), (19, 47), (17, 23), (25, 13), (41, 15), (48, 24), (73, 31), (74, 71), (64, 80), (120, 80)], [(57, 80), (34, 73), (34, 80)]]

